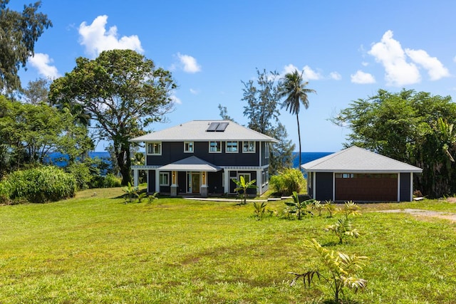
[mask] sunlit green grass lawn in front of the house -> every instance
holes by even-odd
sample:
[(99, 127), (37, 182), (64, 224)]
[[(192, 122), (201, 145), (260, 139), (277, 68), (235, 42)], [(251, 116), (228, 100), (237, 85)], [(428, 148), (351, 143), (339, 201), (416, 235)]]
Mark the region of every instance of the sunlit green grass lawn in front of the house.
[[(323, 284), (289, 286), (315, 263), (303, 239), (370, 258), (368, 288), (344, 303), (456, 303), (455, 224), (379, 209), (456, 212), (456, 204), (366, 204), (363, 233), (336, 245), (335, 218), (254, 219), (252, 203), (162, 198), (125, 204), (118, 189), (0, 207), (0, 303), (329, 303)], [(268, 203), (281, 210), (283, 201)]]

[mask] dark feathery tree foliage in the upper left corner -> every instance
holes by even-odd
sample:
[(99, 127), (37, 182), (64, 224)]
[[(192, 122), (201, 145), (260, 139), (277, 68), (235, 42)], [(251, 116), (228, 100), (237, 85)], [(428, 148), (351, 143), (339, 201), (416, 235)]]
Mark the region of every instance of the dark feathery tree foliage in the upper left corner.
[(0, 88), (11, 92), (21, 88), (18, 70), (25, 68), (28, 57), (34, 54), (35, 42), (52, 23), (48, 16), (38, 13), (41, 1), (24, 6), (22, 13), (8, 9), (8, 3), (0, 0)]

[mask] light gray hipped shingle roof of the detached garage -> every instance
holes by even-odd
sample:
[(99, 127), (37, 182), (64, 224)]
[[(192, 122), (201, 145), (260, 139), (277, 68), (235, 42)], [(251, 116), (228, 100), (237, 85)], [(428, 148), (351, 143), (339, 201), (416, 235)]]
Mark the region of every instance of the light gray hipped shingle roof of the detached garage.
[(307, 172), (423, 172), (418, 167), (356, 146), (307, 162), (301, 167)]

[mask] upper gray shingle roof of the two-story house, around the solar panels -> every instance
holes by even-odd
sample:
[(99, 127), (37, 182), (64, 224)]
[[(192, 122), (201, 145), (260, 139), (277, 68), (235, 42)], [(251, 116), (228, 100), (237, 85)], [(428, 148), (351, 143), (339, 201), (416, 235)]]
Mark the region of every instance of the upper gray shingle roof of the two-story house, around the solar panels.
[[(224, 132), (206, 132), (211, 122), (228, 122)], [(192, 120), (165, 130), (151, 132), (130, 140), (130, 142), (203, 142), (209, 140), (252, 140), (262, 142), (279, 142), (273, 137), (238, 125), (229, 120)]]

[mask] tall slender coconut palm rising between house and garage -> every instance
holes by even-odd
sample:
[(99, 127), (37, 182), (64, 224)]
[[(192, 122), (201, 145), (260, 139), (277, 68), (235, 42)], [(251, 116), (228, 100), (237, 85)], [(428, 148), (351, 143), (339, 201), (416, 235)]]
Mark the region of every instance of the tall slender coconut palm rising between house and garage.
[(296, 114), (296, 122), (298, 122), (298, 138), (299, 138), (299, 167), (301, 167), (301, 131), (299, 130), (299, 110), (301, 103), (304, 108), (309, 108), (308, 93), (316, 93), (316, 90), (306, 88), (309, 84), (304, 81), (302, 73), (294, 70), (293, 73), (287, 73), (283, 78), (283, 83), (279, 90), (279, 98), (285, 98), (282, 103), (282, 108), (286, 108), (291, 114)]

